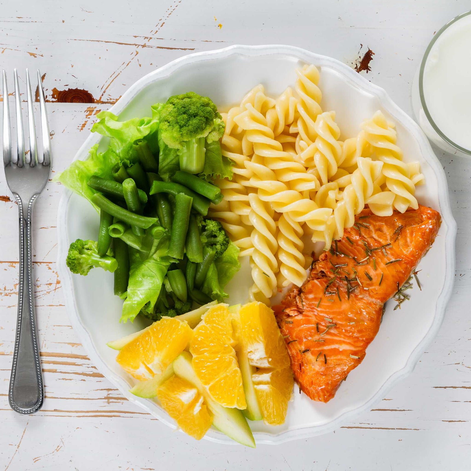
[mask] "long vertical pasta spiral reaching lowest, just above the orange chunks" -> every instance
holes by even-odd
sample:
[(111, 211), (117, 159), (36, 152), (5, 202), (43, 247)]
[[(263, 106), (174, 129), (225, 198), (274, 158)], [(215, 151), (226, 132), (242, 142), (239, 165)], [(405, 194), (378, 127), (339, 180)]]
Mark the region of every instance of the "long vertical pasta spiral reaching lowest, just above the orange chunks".
[(254, 283), (250, 290), (250, 298), (268, 302), (276, 290), (278, 271), (278, 261), (275, 257), (278, 248), (276, 222), (273, 219), (274, 211), (269, 204), (261, 201), (255, 193), (249, 197), (252, 208), (249, 218), (253, 226), (251, 265)]

